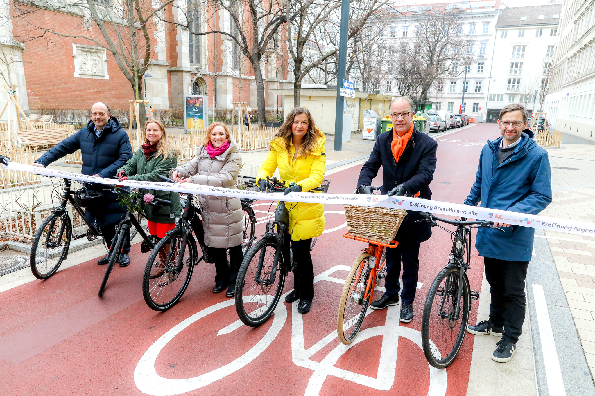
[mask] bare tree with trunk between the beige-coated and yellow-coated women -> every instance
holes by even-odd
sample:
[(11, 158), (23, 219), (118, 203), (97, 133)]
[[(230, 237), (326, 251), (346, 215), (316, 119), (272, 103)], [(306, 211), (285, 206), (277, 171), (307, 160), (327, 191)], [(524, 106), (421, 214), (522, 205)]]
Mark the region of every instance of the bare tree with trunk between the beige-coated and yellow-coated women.
[[(89, 0), (87, 0), (89, 1)], [(190, 30), (190, 33), (203, 36), (205, 34), (222, 34), (231, 37), (243, 55), (248, 58), (252, 65), (256, 82), (256, 94), (258, 97), (258, 122), (264, 126), (265, 119), (265, 88), (264, 88), (264, 60), (269, 45), (277, 30), (286, 22), (286, 13), (283, 9), (284, 2), (281, 0), (196, 0), (188, 2), (189, 7), (184, 3), (174, 7), (180, 8), (184, 14), (196, 14), (214, 12), (215, 8), (224, 9), (228, 12), (237, 32), (215, 28), (212, 23), (207, 22), (195, 24), (189, 18), (179, 20), (166, 20), (168, 23), (181, 26)], [(262, 116), (261, 116), (262, 115)]]

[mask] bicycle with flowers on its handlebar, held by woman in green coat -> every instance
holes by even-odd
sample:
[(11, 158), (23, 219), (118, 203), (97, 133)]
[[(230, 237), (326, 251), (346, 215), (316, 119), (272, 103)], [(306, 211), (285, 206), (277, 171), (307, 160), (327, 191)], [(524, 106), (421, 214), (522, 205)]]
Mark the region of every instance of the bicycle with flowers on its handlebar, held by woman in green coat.
[[(120, 196), (130, 197), (133, 206), (136, 206), (137, 202), (140, 199), (140, 194), (138, 194), (138, 192), (131, 191), (130, 193), (124, 194), (120, 191), (120, 188), (118, 186), (114, 186), (113, 189), (104, 189), (104, 191), (109, 191)], [(155, 206), (161, 204), (171, 205), (171, 201), (167, 201), (167, 199), (153, 198), (151, 202), (146, 202), (146, 204)], [(140, 216), (140, 210), (138, 211), (138, 213)], [(111, 243), (109, 245), (111, 246), (111, 248), (109, 248), (107, 256), (108, 264), (107, 268), (105, 268), (104, 279), (101, 281), (101, 286), (99, 286), (99, 292), (97, 293), (99, 297), (102, 297), (104, 295), (105, 286), (108, 282), (109, 274), (111, 274), (111, 271), (114, 268), (115, 263), (120, 262), (120, 255), (122, 254), (122, 248), (124, 247), (124, 239), (127, 238), (127, 233), (129, 230), (131, 230), (130, 226), (134, 226), (134, 229), (136, 229), (139, 232), (140, 236), (143, 238), (143, 242), (140, 245), (141, 252), (149, 252), (151, 251), (151, 249), (155, 247), (153, 241), (149, 238), (149, 236), (146, 235), (145, 230), (143, 230), (143, 228), (140, 226), (140, 222), (137, 220), (136, 217), (133, 216), (131, 208), (127, 207), (126, 214), (124, 214), (124, 218), (120, 220), (120, 223), (118, 224), (118, 228), (114, 235), (114, 239), (111, 240)], [(130, 240), (131, 239), (132, 236), (130, 236)]]

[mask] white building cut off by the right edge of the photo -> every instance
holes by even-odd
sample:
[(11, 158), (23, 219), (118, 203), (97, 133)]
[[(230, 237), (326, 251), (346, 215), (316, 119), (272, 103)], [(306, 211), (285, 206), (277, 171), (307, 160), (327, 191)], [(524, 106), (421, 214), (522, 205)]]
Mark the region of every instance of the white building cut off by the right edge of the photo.
[(595, 4), (567, 0), (560, 14), (549, 94), (548, 121), (560, 132), (595, 141)]

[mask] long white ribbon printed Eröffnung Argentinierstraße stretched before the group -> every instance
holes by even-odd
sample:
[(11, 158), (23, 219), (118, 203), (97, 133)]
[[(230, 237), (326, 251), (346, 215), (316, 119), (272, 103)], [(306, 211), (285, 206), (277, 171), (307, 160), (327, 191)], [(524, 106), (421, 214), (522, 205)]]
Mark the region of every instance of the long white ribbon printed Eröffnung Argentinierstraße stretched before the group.
[(118, 184), (146, 189), (174, 191), (186, 194), (217, 195), (221, 197), (237, 197), (264, 199), (266, 201), (308, 202), (314, 204), (349, 204), (368, 207), (383, 207), (428, 212), (436, 215), (476, 218), (478, 220), (497, 221), (499, 223), (513, 224), (515, 226), (531, 227), (536, 229), (565, 232), (577, 235), (595, 236), (595, 223), (584, 221), (566, 220), (563, 218), (537, 216), (491, 208), (481, 208), (450, 202), (431, 201), (414, 197), (389, 197), (388, 195), (360, 195), (360, 194), (317, 194), (312, 192), (290, 192), (283, 195), (281, 192), (256, 192), (231, 188), (205, 186), (193, 183), (161, 183), (141, 182), (137, 180), (122, 180), (99, 178), (97, 176), (79, 175), (79, 173), (64, 172), (9, 162), (8, 166), (2, 164), (3, 169), (23, 170), (43, 176), (79, 180), (89, 183)]

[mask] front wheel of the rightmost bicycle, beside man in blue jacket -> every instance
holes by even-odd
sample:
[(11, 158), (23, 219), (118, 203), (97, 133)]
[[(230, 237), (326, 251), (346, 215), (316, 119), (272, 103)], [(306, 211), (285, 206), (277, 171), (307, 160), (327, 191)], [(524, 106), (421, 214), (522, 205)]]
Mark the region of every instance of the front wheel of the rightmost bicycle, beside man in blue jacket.
[(425, 299), (421, 343), (428, 363), (437, 369), (446, 368), (455, 360), (465, 337), (471, 289), (466, 275), (462, 279), (460, 276), (458, 267), (443, 268)]

